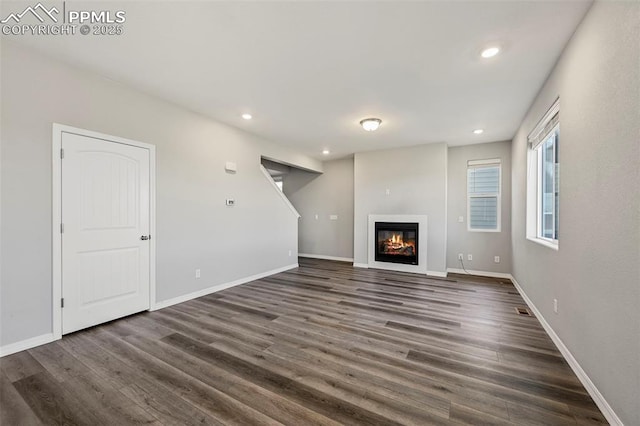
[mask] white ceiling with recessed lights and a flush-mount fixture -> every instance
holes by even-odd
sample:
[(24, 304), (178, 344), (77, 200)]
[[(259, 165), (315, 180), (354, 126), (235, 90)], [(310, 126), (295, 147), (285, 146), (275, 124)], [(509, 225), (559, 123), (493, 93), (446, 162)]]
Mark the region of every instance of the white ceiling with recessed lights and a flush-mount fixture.
[[(19, 39), (316, 158), (326, 158), (323, 148), (336, 158), (511, 139), (590, 4), (89, 2), (87, 9), (125, 10), (125, 34)], [(502, 53), (481, 59), (490, 44)], [(377, 132), (359, 127), (369, 116), (382, 119)], [(476, 128), (485, 132), (474, 135)]]

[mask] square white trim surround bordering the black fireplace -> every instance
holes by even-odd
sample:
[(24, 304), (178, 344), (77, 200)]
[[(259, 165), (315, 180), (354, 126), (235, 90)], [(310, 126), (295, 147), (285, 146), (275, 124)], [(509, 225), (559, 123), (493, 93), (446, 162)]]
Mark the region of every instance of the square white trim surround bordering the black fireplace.
[[(417, 222), (418, 223), (418, 264), (376, 262), (375, 244), (376, 222)], [(369, 268), (387, 271), (412, 272), (414, 274), (427, 273), (427, 216), (417, 214), (370, 214), (368, 216), (367, 233), (367, 264)]]

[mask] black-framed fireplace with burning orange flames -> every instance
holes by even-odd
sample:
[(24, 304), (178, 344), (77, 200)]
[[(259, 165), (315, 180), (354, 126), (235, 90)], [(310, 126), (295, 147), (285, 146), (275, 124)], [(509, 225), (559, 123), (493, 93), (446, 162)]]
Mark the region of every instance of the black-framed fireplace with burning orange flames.
[(418, 264), (418, 223), (376, 222), (376, 262)]

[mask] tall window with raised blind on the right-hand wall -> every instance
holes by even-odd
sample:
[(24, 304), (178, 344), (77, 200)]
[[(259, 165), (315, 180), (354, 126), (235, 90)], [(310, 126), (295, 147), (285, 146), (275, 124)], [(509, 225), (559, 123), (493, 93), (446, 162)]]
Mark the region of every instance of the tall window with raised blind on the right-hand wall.
[(556, 101), (529, 135), (527, 238), (558, 247), (560, 103)]

